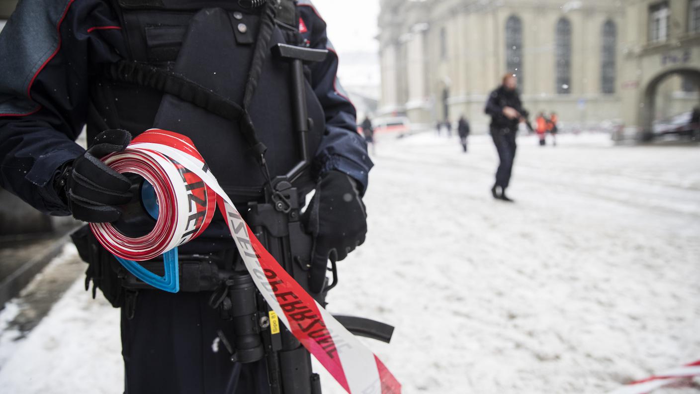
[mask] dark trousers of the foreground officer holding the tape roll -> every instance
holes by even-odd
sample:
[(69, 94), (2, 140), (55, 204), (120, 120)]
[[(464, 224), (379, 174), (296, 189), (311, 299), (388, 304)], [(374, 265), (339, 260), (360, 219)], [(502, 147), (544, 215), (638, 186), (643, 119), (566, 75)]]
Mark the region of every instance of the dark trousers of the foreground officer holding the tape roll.
[(267, 394), (265, 360), (230, 361), (218, 340), (231, 322), (209, 306), (209, 292), (139, 292), (134, 317), (122, 309), (125, 394)]

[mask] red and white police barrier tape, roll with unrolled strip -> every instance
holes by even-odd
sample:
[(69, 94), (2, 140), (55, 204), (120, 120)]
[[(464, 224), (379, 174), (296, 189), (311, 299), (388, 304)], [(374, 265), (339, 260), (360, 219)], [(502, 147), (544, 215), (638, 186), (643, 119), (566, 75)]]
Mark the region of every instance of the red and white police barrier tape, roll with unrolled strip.
[(104, 162), (117, 172), (144, 177), (155, 189), (160, 210), (153, 231), (140, 238), (124, 236), (111, 224), (90, 224), (107, 250), (134, 261), (157, 257), (200, 235), (218, 205), (267, 304), (338, 383), (351, 394), (401, 392), (400, 384), (379, 358), (316, 303), (265, 250), (188, 137), (151, 129)]

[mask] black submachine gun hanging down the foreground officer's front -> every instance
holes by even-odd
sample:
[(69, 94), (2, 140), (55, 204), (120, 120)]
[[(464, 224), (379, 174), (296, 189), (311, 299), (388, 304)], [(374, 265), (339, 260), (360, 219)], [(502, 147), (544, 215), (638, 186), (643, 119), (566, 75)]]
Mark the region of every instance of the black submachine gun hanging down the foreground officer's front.
[[(310, 285), (313, 239), (300, 222), (305, 196), (293, 184), (309, 170), (311, 162), (307, 146), (311, 119), (305, 97), (304, 62), (319, 62), (325, 59), (328, 50), (279, 43), (273, 51), (290, 64), (294, 129), (299, 137), (301, 161), (288, 174), (270, 180), (265, 189), (265, 203), (248, 203), (247, 212), (241, 214), (283, 269), (325, 306), (325, 295), (338, 283), (337, 268), (333, 262), (329, 269), (332, 283), (323, 276), (323, 283)], [(313, 278), (316, 280), (316, 276)], [(311, 288), (321, 288), (321, 291), (312, 292)], [(212, 299), (223, 318), (234, 322), (235, 332), (219, 333), (231, 353), (231, 360), (245, 363), (265, 358), (271, 394), (320, 394), (321, 381), (311, 370), (311, 355), (279, 324), (274, 313), (270, 313), (250, 274), (235, 273), (227, 278), (224, 289), (215, 292)], [(391, 340), (393, 327), (390, 325), (352, 316), (335, 315), (335, 318), (353, 334), (387, 343)], [(233, 341), (229, 341), (229, 337), (233, 337)]]

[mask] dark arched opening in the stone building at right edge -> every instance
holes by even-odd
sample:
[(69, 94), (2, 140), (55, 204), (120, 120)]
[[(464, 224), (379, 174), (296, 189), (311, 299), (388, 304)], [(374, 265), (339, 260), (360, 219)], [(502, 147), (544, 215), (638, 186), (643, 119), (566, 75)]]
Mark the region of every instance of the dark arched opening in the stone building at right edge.
[[(691, 111), (693, 107), (700, 106), (700, 69), (694, 67), (679, 67), (675, 69), (667, 69), (664, 72), (659, 73), (654, 78), (650, 79), (646, 83), (646, 87), (643, 90), (643, 95), (640, 97), (640, 104), (638, 106), (638, 119), (639, 125), (641, 126), (641, 131), (644, 138), (651, 138), (654, 136), (654, 121), (657, 121), (659, 117), (669, 115), (666, 113), (668, 111), (668, 96), (659, 95), (659, 87), (664, 86), (669, 79), (673, 76), (679, 76), (678, 81), (683, 81), (685, 85), (694, 86), (694, 94), (689, 97), (693, 97), (692, 100), (686, 100), (687, 108), (682, 108), (683, 111)], [(678, 90), (680, 91), (680, 82), (678, 83)], [(675, 100), (675, 99), (674, 99)], [(676, 104), (675, 111), (678, 111), (678, 104)], [(664, 111), (661, 114), (659, 111)]]

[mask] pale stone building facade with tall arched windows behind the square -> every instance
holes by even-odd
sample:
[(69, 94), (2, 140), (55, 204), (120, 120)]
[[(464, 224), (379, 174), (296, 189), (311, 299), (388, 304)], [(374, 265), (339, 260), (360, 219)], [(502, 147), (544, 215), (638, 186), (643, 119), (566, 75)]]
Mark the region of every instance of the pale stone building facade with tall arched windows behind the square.
[(379, 29), (379, 112), (414, 123), (485, 131), (506, 73), (531, 114), (576, 127), (641, 133), (700, 102), (700, 0), (381, 0)]

